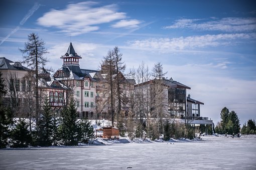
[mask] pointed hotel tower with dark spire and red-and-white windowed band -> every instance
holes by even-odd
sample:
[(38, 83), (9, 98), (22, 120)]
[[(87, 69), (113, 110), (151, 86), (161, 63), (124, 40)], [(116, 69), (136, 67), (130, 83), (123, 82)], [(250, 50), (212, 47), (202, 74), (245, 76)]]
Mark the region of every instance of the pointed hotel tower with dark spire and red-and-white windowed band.
[(78, 75), (82, 73), (79, 66), (79, 59), (82, 57), (77, 55), (72, 42), (70, 42), (65, 55), (62, 55), (60, 58), (63, 58), (63, 67), (67, 66), (70, 70), (72, 70), (74, 73), (77, 73)]

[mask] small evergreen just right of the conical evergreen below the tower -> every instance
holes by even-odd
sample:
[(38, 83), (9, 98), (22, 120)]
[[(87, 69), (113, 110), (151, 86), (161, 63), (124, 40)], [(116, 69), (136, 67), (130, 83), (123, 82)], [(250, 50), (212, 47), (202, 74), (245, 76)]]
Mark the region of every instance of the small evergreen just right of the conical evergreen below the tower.
[(79, 128), (79, 135), (82, 142), (88, 143), (89, 140), (95, 137), (93, 126), (88, 119), (82, 118), (79, 121)]

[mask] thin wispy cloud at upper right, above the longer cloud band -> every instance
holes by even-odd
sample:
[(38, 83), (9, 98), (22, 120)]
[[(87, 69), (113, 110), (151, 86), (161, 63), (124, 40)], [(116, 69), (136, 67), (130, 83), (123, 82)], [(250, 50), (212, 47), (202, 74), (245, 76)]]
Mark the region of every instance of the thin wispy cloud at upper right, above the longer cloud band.
[(164, 28), (191, 28), (197, 30), (218, 30), (225, 32), (251, 32), (256, 30), (255, 17), (225, 17), (217, 19), (212, 17), (208, 21), (205, 19), (178, 19), (174, 24)]

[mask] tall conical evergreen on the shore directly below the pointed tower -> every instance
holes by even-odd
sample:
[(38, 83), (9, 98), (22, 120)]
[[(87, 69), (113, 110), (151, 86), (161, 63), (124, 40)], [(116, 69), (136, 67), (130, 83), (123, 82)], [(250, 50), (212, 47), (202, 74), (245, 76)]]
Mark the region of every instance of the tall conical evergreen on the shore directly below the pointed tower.
[(62, 122), (58, 129), (58, 134), (62, 144), (77, 145), (80, 140), (79, 124), (77, 122), (76, 102), (73, 97), (62, 110)]

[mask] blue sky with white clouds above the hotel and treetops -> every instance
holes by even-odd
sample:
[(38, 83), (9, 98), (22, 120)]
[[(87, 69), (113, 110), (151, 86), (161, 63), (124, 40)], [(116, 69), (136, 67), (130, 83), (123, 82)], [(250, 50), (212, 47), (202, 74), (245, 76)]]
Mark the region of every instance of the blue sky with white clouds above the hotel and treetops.
[(161, 62), (166, 77), (191, 87), (201, 116), (234, 110), (256, 120), (256, 2), (253, 0), (1, 0), (0, 57), (22, 61), (37, 33), (57, 70), (72, 42), (80, 67), (99, 69), (114, 46), (126, 72)]

